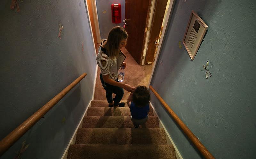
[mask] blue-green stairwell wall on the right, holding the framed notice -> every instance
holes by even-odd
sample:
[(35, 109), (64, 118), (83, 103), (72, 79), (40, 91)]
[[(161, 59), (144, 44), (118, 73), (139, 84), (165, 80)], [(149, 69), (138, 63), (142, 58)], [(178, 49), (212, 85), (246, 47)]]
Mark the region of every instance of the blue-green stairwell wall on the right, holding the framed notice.
[[(182, 41), (191, 11), (209, 26), (194, 61)], [(217, 159), (256, 156), (256, 1), (176, 0), (151, 85)], [(212, 77), (202, 65), (209, 60)], [(184, 159), (201, 158), (151, 93)]]

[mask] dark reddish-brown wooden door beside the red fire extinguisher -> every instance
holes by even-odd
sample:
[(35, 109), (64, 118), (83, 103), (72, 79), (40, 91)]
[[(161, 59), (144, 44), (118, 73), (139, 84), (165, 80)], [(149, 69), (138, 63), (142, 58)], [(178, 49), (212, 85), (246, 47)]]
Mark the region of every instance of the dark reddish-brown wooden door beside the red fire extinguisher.
[(129, 35), (126, 49), (138, 64), (142, 62), (150, 3), (151, 0), (125, 0), (125, 30)]

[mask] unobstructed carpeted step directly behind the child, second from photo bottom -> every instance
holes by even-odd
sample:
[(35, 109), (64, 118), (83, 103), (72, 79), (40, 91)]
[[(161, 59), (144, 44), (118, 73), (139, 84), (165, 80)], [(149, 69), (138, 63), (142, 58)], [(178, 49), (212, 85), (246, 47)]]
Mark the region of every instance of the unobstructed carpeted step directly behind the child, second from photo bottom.
[(76, 144), (167, 144), (164, 128), (80, 128)]

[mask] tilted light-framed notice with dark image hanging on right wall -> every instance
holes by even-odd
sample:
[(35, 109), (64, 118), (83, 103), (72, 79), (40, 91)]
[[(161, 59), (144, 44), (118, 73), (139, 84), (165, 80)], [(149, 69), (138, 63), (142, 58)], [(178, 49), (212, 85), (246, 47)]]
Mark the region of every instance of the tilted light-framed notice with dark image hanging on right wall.
[(191, 60), (194, 60), (207, 28), (204, 21), (192, 11), (182, 41)]

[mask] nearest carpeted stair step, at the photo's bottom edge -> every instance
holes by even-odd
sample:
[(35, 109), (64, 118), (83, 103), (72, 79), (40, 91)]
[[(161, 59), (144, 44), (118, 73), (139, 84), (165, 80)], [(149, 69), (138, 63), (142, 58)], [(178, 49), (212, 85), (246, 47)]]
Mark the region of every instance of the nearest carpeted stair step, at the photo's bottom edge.
[(176, 159), (172, 145), (70, 145), (68, 159)]

